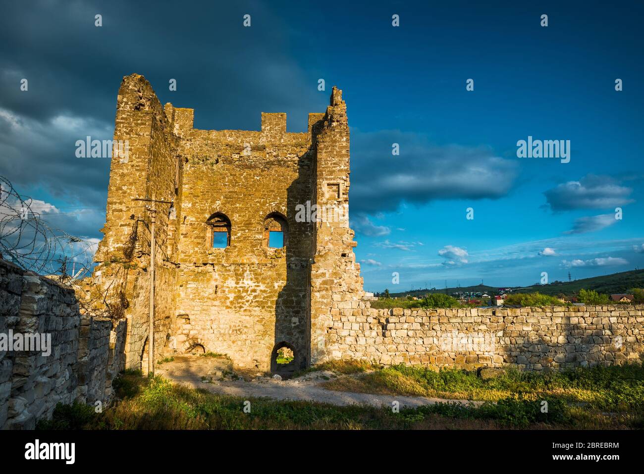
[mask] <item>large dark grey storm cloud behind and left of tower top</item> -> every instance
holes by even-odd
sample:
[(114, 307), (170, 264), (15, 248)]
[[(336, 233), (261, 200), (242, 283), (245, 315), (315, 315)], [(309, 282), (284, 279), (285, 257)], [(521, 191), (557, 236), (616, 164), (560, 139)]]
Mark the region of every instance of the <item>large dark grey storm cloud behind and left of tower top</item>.
[[(323, 111), (328, 95), (285, 54), (281, 19), (254, 2), (198, 6), (195, 14), (174, 1), (3, 5), (0, 174), (23, 193), (104, 210), (109, 159), (77, 158), (75, 141), (111, 138), (118, 87), (134, 72), (162, 103), (194, 108), (196, 128), (259, 129), (261, 111), (285, 111), (290, 130), (306, 129), (308, 111)], [(247, 13), (252, 26), (243, 28)]]

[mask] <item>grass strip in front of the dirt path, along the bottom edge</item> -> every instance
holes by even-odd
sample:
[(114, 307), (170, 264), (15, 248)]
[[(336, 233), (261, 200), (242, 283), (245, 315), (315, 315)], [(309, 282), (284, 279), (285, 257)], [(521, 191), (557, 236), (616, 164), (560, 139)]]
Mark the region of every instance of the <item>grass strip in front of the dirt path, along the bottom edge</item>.
[[(171, 384), (162, 377), (142, 377), (128, 372), (116, 384), (121, 401), (102, 413), (93, 406), (75, 403), (57, 406), (53, 419), (39, 422), (41, 430), (177, 430), (177, 429), (432, 429), (432, 428), (535, 428), (555, 423), (565, 426), (565, 407), (551, 401), (541, 413), (536, 401), (508, 399), (480, 407), (435, 404), (415, 410), (372, 406), (334, 406), (304, 401), (245, 399), (217, 395)], [(554, 425), (553, 425), (554, 427)]]

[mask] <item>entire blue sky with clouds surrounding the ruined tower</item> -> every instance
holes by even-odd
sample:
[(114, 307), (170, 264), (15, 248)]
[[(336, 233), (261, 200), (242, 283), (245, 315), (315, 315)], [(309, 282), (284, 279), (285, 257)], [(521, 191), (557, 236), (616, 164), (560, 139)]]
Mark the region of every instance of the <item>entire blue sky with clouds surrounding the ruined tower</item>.
[[(529, 285), (544, 271), (552, 281), (643, 266), (641, 3), (231, 4), (3, 7), (0, 174), (55, 206), (49, 217), (68, 232), (100, 238), (109, 160), (76, 158), (73, 144), (111, 137), (124, 75), (194, 108), (202, 129), (259, 129), (261, 111), (280, 111), (303, 131), (337, 85), (365, 289)], [(529, 135), (570, 140), (570, 162), (517, 158)]]

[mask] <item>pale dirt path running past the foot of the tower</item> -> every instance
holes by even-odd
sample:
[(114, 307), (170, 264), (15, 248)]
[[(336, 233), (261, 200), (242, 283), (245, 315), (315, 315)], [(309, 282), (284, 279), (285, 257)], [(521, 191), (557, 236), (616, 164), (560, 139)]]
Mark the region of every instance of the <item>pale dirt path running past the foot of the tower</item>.
[[(214, 370), (213, 365), (215, 365)], [(229, 366), (227, 362), (222, 363), (217, 359), (208, 357), (180, 356), (176, 357), (173, 362), (164, 363), (156, 372), (176, 384), (191, 388), (203, 388), (209, 392), (234, 395), (236, 397), (269, 397), (276, 400), (305, 400), (334, 405), (367, 404), (372, 406), (393, 406), (392, 403), (397, 401), (401, 408), (416, 408), (439, 402), (480, 403), (426, 397), (405, 397), (402, 395), (336, 392), (319, 386), (321, 382), (335, 376), (330, 372), (311, 372), (297, 379), (283, 381), (269, 377), (256, 377), (251, 381), (216, 379), (208, 382), (202, 381), (202, 377), (209, 379), (210, 374), (219, 375)]]

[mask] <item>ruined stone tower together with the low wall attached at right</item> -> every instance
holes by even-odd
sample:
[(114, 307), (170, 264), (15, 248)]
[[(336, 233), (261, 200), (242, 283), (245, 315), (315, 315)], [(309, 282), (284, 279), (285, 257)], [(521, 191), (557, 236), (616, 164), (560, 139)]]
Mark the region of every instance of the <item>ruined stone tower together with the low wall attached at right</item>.
[[(127, 140), (129, 156), (113, 154), (88, 294), (127, 319), (128, 367), (147, 367), (146, 205), (156, 208), (155, 360), (217, 352), (276, 371), (287, 347), (290, 370), (350, 358), (539, 370), (644, 353), (639, 306), (370, 308), (348, 220), (296, 218), (302, 205), (348, 215), (349, 129), (337, 88), (305, 133), (288, 133), (284, 113), (262, 113), (260, 131), (195, 129), (193, 115), (162, 106), (137, 74), (118, 91), (114, 140)], [(271, 232), (283, 245), (270, 244)]]

